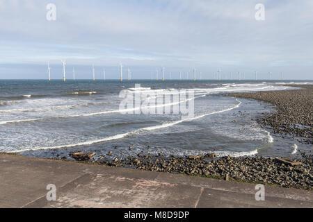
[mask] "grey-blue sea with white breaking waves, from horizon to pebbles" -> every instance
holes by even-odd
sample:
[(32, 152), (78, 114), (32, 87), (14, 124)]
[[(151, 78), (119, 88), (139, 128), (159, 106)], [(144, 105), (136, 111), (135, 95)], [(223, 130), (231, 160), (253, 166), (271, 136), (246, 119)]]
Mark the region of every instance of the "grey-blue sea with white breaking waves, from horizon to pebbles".
[[(97, 157), (109, 151), (112, 157), (139, 152), (290, 157), (311, 147), (255, 122), (273, 111), (271, 105), (225, 96), (288, 88), (275, 81), (0, 80), (0, 151), (47, 158), (72, 151), (95, 151)], [(163, 96), (178, 89), (193, 92), (186, 98), (193, 101), (193, 116), (120, 112), (122, 90)], [(172, 105), (177, 103), (164, 101), (161, 107)]]

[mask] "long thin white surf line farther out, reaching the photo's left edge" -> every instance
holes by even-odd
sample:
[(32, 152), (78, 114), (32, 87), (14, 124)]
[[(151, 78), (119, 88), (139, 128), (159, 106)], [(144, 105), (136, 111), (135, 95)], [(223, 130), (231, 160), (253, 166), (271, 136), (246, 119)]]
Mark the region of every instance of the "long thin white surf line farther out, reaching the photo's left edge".
[(20, 120), (8, 120), (8, 121), (0, 121), (0, 125), (4, 125), (7, 123), (21, 123), (21, 122), (29, 122), (29, 121), (40, 121), (40, 120), (45, 120), (45, 119), (62, 119), (62, 118), (74, 118), (74, 117), (91, 117), (95, 115), (100, 115), (100, 114), (111, 114), (111, 113), (118, 113), (118, 112), (129, 112), (129, 111), (136, 111), (136, 110), (141, 110), (145, 108), (159, 108), (159, 107), (165, 107), (168, 105), (177, 105), (179, 103), (185, 103), (187, 101), (191, 101), (193, 99), (198, 99), (201, 97), (204, 97), (206, 95), (198, 96), (198, 97), (193, 97), (191, 99), (186, 99), (184, 101), (179, 101), (175, 103), (166, 103), (162, 105), (152, 105), (152, 106), (143, 106), (143, 107), (138, 107), (138, 108), (131, 108), (131, 109), (125, 109), (125, 110), (111, 110), (111, 111), (104, 111), (104, 112), (93, 112), (93, 113), (88, 113), (88, 114), (77, 114), (77, 115), (70, 115), (70, 116), (65, 116), (65, 117), (49, 117), (49, 118), (39, 118), (39, 119), (20, 119)]

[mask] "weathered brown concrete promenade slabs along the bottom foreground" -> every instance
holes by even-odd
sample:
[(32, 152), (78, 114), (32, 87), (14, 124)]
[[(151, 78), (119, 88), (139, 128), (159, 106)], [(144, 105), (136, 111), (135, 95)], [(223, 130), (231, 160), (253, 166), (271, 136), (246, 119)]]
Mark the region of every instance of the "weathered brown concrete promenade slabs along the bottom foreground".
[[(46, 198), (56, 185), (56, 201)], [(0, 154), (0, 207), (313, 207), (313, 191)]]

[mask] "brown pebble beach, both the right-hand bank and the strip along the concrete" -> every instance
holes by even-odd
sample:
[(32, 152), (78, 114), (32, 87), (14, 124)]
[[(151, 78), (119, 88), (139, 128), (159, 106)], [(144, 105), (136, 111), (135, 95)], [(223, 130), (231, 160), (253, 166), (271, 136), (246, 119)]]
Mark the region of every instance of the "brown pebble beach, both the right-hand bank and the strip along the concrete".
[[(272, 92), (253, 92), (229, 94), (245, 99), (257, 99), (275, 105), (275, 112), (264, 114), (257, 119), (265, 128), (271, 127), (273, 133), (282, 137), (296, 137), (300, 142), (312, 144), (312, 85), (292, 85), (302, 89)], [(310, 102), (311, 101), (311, 102)], [(305, 126), (296, 128), (296, 126)], [(129, 147), (131, 149), (131, 146)], [(111, 156), (115, 151), (93, 160), (94, 153), (80, 153), (87, 162), (103, 164), (111, 167), (131, 167), (145, 171), (182, 173), (191, 176), (222, 178), (241, 182), (263, 183), (280, 187), (312, 189), (313, 163), (312, 154), (299, 151), (293, 160), (297, 164), (286, 163), (275, 157), (243, 156), (216, 157), (214, 153), (207, 155), (186, 155), (170, 157), (159, 153), (146, 155), (138, 153), (125, 158)], [(81, 155), (72, 157), (79, 160)], [(66, 159), (66, 158), (64, 158)], [(89, 160), (89, 161), (88, 161)], [(86, 162), (86, 160), (83, 160)]]

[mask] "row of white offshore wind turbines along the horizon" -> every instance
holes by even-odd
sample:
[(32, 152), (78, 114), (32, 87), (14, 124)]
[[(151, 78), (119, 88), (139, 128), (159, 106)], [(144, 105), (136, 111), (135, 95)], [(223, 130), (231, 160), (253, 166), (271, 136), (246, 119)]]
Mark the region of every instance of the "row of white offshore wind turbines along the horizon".
[[(65, 73), (65, 65), (66, 65), (66, 62), (65, 60), (61, 60), (62, 62), (62, 67), (63, 67), (63, 82), (66, 81), (66, 73)], [(161, 67), (161, 80), (164, 81), (166, 80), (165, 78), (165, 67)], [(106, 69), (103, 68), (103, 80), (106, 80)], [(118, 74), (120, 76), (120, 81), (122, 82), (123, 81), (123, 65), (120, 64), (119, 65), (119, 71), (120, 73)], [(238, 71), (238, 73), (233, 73), (233, 72), (230, 72), (230, 74), (227, 76), (227, 74), (223, 74), (222, 75), (222, 70), (221, 69), (218, 69), (216, 72), (214, 72), (214, 75), (212, 76), (213, 80), (259, 80), (259, 72), (258, 71), (255, 71), (253, 74), (250, 74), (250, 78), (246, 78), (246, 73), (245, 72), (241, 72), (241, 71)], [(95, 81), (95, 66), (93, 65), (91, 67), (91, 74), (92, 74), (92, 79)], [(155, 74), (155, 77), (154, 77), (154, 74)], [(49, 65), (49, 62), (48, 62), (48, 79), (49, 81), (51, 80), (51, 67)], [(72, 69), (72, 75), (73, 75), (73, 80), (75, 80), (75, 68), (73, 67)], [(172, 80), (172, 72), (170, 71), (170, 77), (169, 79)], [(189, 78), (189, 73), (186, 72), (185, 73), (186, 77), (183, 78), (182, 76), (182, 71), (179, 71), (179, 78), (176, 78), (176, 80), (203, 80), (202, 78), (202, 72), (201, 71), (198, 71), (197, 72), (197, 69), (193, 69), (193, 78)], [(197, 78), (198, 76), (198, 78)], [(248, 75), (247, 75), (248, 76)], [(252, 78), (251, 78), (252, 77)], [(264, 78), (263, 78), (264, 79)], [(283, 73), (281, 72), (280, 73), (280, 79), (283, 80), (284, 79), (284, 75)], [(129, 68), (127, 68), (127, 80), (131, 80), (131, 71)], [(159, 69), (156, 69), (155, 71), (151, 71), (151, 80), (159, 80)], [(268, 72), (268, 80), (274, 80), (273, 79), (273, 73), (270, 71)], [(275, 78), (275, 80), (278, 80), (278, 78)]]

